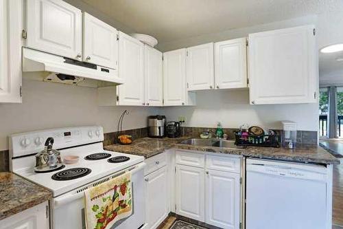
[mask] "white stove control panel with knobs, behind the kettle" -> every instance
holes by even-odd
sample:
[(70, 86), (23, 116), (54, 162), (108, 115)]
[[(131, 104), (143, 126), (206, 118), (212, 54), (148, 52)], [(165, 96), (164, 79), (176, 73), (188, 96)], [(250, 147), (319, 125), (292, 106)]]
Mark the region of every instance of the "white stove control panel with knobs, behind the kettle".
[(82, 144), (102, 142), (104, 131), (100, 126), (67, 127), (47, 129), (10, 136), (10, 151), (12, 157), (21, 157), (38, 153), (44, 149), (45, 140), (54, 138), (54, 149), (64, 149)]

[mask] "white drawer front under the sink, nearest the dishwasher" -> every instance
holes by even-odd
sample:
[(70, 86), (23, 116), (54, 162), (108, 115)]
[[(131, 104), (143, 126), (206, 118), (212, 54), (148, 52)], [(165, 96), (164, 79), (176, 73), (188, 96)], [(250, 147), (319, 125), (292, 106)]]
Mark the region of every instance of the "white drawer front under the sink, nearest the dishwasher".
[(241, 159), (236, 157), (206, 155), (206, 168), (231, 173), (240, 173)]

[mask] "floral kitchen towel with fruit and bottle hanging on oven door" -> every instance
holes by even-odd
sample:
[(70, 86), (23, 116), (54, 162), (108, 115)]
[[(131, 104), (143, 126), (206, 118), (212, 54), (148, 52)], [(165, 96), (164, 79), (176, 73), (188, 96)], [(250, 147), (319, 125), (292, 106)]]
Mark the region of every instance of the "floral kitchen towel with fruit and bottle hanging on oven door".
[(132, 215), (131, 173), (84, 192), (87, 229), (109, 229), (119, 219)]

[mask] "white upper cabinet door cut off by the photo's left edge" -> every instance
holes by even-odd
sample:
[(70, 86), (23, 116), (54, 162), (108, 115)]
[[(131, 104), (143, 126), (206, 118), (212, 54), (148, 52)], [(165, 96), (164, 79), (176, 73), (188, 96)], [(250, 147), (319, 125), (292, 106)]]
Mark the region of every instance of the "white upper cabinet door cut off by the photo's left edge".
[(21, 102), (21, 7), (0, 0), (0, 102)]

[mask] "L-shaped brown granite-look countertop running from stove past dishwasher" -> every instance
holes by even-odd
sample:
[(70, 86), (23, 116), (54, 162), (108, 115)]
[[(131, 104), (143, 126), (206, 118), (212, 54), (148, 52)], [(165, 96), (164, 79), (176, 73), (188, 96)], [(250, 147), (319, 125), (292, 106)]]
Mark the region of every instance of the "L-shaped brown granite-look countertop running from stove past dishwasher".
[(319, 164), (340, 164), (340, 160), (328, 153), (318, 145), (300, 145), (297, 144), (296, 149), (289, 150), (283, 148), (272, 147), (256, 147), (248, 146), (246, 149), (225, 149), (214, 146), (192, 146), (187, 144), (179, 144), (183, 138), (139, 138), (134, 140), (130, 145), (112, 144), (105, 146), (108, 151), (116, 151), (120, 153), (129, 153), (134, 155), (142, 155), (145, 158), (152, 157), (158, 153), (162, 153), (166, 149), (189, 149), (194, 151), (203, 151), (208, 153), (226, 153), (234, 155), (242, 155), (246, 157), (257, 157), (272, 160), (283, 160), (289, 162), (305, 162)]

